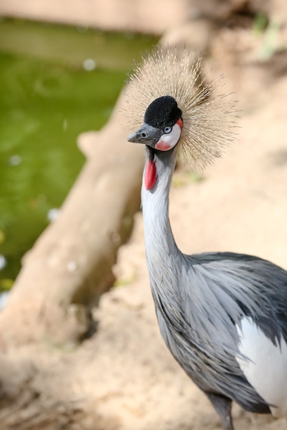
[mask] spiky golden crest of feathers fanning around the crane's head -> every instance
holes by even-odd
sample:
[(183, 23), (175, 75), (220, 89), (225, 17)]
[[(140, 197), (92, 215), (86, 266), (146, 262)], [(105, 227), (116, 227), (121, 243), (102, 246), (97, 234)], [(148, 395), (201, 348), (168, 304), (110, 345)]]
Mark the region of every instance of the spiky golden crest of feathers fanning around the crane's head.
[(125, 89), (129, 128), (136, 131), (142, 125), (153, 100), (171, 95), (182, 110), (180, 150), (193, 170), (202, 171), (235, 137), (234, 103), (225, 95), (215, 95), (217, 83), (205, 80), (202, 58), (194, 53), (156, 48), (136, 66)]

